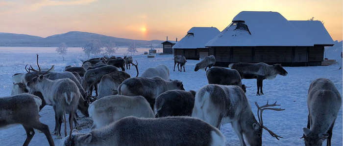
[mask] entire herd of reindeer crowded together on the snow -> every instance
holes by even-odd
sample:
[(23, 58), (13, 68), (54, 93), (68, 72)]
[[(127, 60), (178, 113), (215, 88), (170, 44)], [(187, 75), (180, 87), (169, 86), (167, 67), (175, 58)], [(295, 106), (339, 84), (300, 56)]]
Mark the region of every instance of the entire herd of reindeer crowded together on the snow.
[[(186, 62), (184, 56), (175, 56), (173, 71), (176, 64), (178, 68), (180, 64), (179, 71), (182, 67), (185, 71)], [(284, 109), (274, 108), (279, 105), (276, 102), (262, 106), (255, 102), (257, 121), (245, 96), (247, 86), (242, 83), (242, 79), (257, 79), (256, 95), (263, 95), (263, 80), (288, 74), (281, 64), (231, 63), (227, 69), (212, 67), (215, 63), (211, 55), (196, 64), (195, 71), (204, 68), (209, 83), (196, 92), (185, 91), (181, 81), (171, 80), (164, 64), (148, 68), (138, 77), (138, 63), (134, 64), (132, 57), (104, 56), (54, 72), (53, 65), (40, 68), (37, 54), (38, 69), (26, 65), (27, 73), (12, 76), (11, 96), (0, 98), (0, 129), (23, 125), (27, 136), (23, 146), (31, 141), (33, 129), (42, 131), (54, 146), (51, 134), (62, 138), (63, 121), (65, 126), (69, 121), (71, 129), (67, 136), (65, 127), (63, 146), (225, 146), (219, 129), (226, 123), (231, 123), (241, 146), (262, 146), (263, 129), (277, 140), (282, 138), (263, 124), (262, 112)], [(125, 72), (125, 65), (130, 69), (131, 64), (137, 70), (133, 78)], [(302, 137), (305, 146), (321, 146), (324, 140), (331, 146), (341, 104), (341, 95), (330, 80), (320, 78), (311, 83), (308, 124)], [(45, 105), (55, 112), (51, 134), (48, 125), (39, 121)], [(76, 110), (92, 118), (91, 132), (78, 132), (82, 127)]]

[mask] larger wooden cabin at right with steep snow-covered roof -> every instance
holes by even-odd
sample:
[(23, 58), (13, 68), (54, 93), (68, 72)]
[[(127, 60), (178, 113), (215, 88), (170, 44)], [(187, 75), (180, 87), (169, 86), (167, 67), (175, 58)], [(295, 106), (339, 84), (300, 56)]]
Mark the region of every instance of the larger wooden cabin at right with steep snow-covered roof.
[(321, 65), (324, 46), (334, 42), (320, 21), (288, 21), (278, 12), (240, 12), (205, 44), (216, 66), (230, 63)]

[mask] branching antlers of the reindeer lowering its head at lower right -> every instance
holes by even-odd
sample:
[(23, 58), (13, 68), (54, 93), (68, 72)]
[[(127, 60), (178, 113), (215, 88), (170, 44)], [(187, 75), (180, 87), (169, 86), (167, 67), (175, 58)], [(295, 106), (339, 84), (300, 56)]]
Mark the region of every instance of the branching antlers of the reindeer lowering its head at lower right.
[[(269, 134), (272, 136), (272, 137), (275, 137), (277, 140), (279, 140), (279, 138), (283, 138), (281, 136), (278, 136), (277, 134), (275, 134), (273, 131), (271, 131), (270, 129), (268, 129), (266, 126), (263, 125), (263, 119), (262, 119), (262, 112), (263, 110), (265, 109), (270, 109), (270, 110), (276, 110), (276, 111), (282, 111), (282, 110), (285, 110), (285, 109), (281, 109), (281, 108), (268, 108), (268, 107), (271, 107), (271, 106), (277, 106), (278, 104), (276, 104), (276, 102), (274, 104), (268, 104), (269, 101), (267, 100), (267, 104), (266, 105), (263, 105), (263, 106), (259, 106), (257, 104), (257, 102), (255, 102), (256, 106), (257, 106), (257, 117), (258, 117), (258, 121), (260, 122), (260, 125), (262, 128), (266, 129)], [(260, 116), (260, 113), (259, 111), (261, 110), (261, 116)], [(279, 137), (279, 138), (278, 138)]]

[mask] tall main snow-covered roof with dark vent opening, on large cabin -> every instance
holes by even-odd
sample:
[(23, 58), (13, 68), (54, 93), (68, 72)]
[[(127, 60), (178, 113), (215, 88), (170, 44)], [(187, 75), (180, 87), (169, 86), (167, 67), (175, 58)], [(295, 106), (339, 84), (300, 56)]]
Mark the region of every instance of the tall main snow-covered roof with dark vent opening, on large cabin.
[[(205, 46), (313, 46), (314, 41), (278, 12), (240, 12)], [(244, 21), (247, 30), (236, 29)], [(231, 26), (231, 27), (230, 27)]]

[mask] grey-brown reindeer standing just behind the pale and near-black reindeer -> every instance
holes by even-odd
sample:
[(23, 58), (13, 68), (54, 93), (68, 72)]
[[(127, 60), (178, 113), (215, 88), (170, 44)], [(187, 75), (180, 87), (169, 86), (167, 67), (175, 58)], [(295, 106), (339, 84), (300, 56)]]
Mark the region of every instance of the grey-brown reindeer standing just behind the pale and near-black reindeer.
[(118, 86), (118, 94), (126, 96), (143, 96), (154, 109), (155, 99), (158, 95), (169, 90), (185, 90), (181, 81), (166, 81), (160, 77), (129, 78)]

